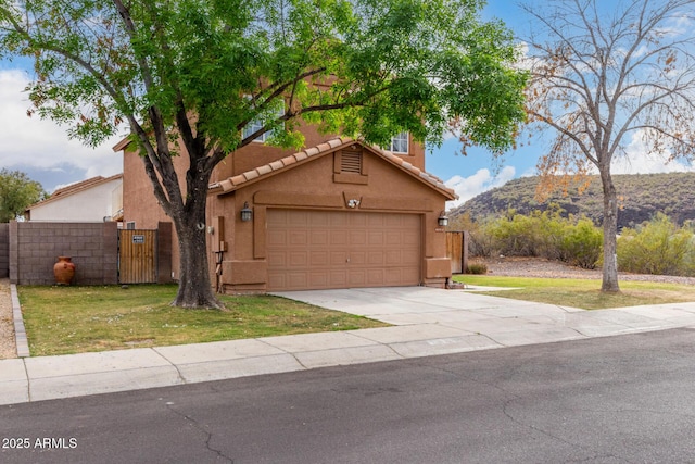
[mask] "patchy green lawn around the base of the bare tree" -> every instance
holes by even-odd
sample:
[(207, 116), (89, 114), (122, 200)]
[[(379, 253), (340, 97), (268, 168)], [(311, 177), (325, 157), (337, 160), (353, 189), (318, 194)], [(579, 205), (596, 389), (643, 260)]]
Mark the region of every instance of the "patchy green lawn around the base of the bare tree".
[(626, 280), (620, 283), (620, 293), (610, 294), (602, 293), (601, 280), (595, 279), (463, 275), (455, 276), (454, 280), (468, 285), (517, 288), (514, 290), (485, 291), (482, 292), (483, 294), (584, 310), (695, 301), (694, 286), (677, 284)]

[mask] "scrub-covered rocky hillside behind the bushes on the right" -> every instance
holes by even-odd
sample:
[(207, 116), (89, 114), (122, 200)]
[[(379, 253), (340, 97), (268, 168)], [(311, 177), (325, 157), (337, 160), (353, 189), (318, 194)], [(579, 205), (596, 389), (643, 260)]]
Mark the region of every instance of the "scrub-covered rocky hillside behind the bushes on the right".
[[(510, 180), (500, 188), (483, 192), (450, 213), (456, 216), (468, 212), (476, 220), (516, 210), (528, 214), (533, 210), (545, 211), (548, 204), (556, 203), (564, 215), (585, 215), (596, 224), (603, 220), (603, 193), (601, 180), (594, 177), (590, 187), (579, 195), (571, 189), (567, 196), (561, 192), (544, 203), (535, 200), (538, 177), (523, 177)], [(662, 212), (672, 221), (683, 224), (695, 220), (695, 173), (635, 174), (614, 176), (618, 190), (618, 228), (633, 227)]]

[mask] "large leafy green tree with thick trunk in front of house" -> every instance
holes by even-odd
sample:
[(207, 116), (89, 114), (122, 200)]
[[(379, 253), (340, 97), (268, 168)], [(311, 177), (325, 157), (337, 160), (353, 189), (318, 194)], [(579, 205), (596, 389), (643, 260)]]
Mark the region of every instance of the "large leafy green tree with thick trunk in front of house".
[(35, 59), (34, 111), (70, 136), (98, 145), (129, 126), (178, 235), (174, 304), (218, 306), (197, 225), (215, 166), (256, 137), (300, 148), (307, 122), (381, 146), (403, 130), (437, 145), (455, 120), (470, 142), (513, 145), (526, 73), (506, 28), (478, 17), (483, 4), (0, 0), (0, 54)]

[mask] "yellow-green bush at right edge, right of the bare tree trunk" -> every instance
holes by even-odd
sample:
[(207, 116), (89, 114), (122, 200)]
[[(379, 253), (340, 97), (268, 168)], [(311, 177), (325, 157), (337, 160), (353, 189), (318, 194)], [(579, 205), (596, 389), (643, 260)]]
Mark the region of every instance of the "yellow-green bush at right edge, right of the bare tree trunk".
[(658, 213), (636, 228), (623, 228), (618, 240), (618, 268), (639, 274), (692, 275), (693, 231)]

